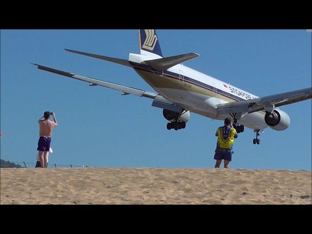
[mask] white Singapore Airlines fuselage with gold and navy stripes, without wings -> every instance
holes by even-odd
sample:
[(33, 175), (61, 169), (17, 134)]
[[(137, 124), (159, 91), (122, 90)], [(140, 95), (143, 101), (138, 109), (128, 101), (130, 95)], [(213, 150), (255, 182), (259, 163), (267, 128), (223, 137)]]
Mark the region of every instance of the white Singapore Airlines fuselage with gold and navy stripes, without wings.
[[(217, 117), (217, 105), (239, 100), (258, 98), (216, 78), (192, 68), (178, 64), (166, 71), (153, 70), (142, 62), (155, 59), (147, 55), (130, 54), (129, 61), (140, 77), (164, 98), (178, 104), (190, 112), (212, 119), (224, 120), (229, 115)], [(241, 117), (237, 123), (251, 129), (269, 127), (264, 120), (264, 111)]]

